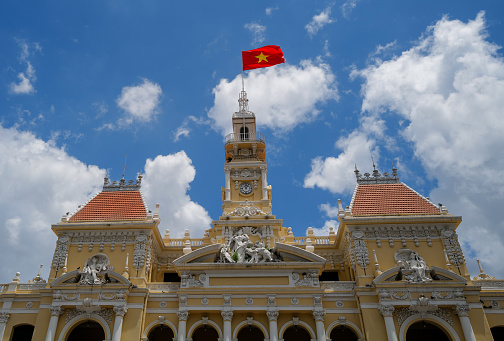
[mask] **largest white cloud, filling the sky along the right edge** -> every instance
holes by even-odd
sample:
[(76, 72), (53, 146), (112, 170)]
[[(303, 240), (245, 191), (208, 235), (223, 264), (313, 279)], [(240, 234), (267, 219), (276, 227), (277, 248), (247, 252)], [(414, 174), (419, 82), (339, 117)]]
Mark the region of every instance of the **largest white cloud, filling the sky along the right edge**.
[(487, 38), (484, 13), (467, 23), (445, 17), (416, 46), (354, 76), (365, 79), (363, 112), (389, 110), (405, 120), (403, 137), (438, 184), (430, 197), (463, 215), (459, 234), (472, 273), (478, 272), (475, 255), (502, 278), (495, 260), (504, 258), (504, 159), (498, 154), (504, 150), (504, 62)]

